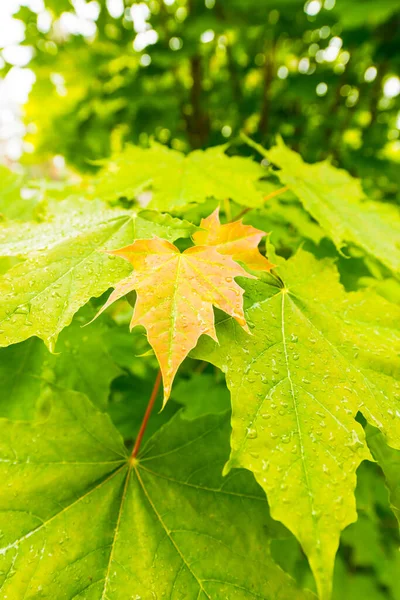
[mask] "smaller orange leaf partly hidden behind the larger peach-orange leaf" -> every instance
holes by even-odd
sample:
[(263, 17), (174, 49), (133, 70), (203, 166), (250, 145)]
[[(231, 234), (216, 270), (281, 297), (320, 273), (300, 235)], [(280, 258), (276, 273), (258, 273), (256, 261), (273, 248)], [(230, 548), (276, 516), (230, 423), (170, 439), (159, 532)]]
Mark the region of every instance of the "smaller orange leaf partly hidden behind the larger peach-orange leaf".
[(254, 271), (270, 271), (274, 266), (258, 250), (264, 231), (252, 225), (244, 225), (242, 220), (221, 225), (219, 208), (216, 208), (206, 219), (202, 219), (200, 227), (193, 235), (196, 245), (215, 246), (221, 254), (232, 256)]

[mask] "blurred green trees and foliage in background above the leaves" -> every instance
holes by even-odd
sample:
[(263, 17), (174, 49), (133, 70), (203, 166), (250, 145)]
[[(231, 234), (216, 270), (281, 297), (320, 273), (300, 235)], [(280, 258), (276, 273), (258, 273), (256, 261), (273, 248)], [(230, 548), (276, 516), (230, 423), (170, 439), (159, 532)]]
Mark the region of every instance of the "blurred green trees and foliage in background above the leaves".
[(244, 129), (395, 198), (398, 0), (44, 4), (45, 26), (27, 7), (15, 15), (34, 49), (33, 162), (61, 154), (87, 170), (126, 141), (189, 150)]

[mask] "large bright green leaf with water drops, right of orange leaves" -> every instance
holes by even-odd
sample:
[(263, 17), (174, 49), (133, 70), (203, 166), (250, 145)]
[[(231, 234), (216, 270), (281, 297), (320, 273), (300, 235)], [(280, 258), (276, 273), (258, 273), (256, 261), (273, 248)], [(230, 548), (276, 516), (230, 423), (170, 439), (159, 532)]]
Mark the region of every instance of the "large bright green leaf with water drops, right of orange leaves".
[(369, 456), (357, 412), (400, 447), (400, 310), (373, 293), (346, 294), (335, 267), (306, 252), (271, 260), (284, 287), (272, 277), (240, 282), (253, 335), (223, 317), (219, 345), (204, 339), (195, 355), (226, 373), (227, 470), (255, 474), (325, 599), (340, 531), (356, 519), (355, 472)]

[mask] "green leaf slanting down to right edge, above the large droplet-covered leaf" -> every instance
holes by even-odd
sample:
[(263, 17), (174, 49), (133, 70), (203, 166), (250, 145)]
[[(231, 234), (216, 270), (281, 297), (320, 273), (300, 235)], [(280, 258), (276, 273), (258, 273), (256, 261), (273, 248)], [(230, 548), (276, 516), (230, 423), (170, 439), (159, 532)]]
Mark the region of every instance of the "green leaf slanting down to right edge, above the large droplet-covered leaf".
[(282, 140), (263, 152), (280, 168), (281, 182), (298, 196), (339, 249), (346, 243), (356, 244), (400, 273), (400, 211), (396, 207), (367, 201), (358, 179), (327, 161), (305, 163)]

